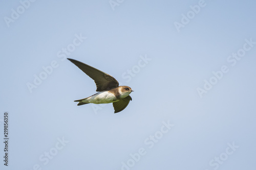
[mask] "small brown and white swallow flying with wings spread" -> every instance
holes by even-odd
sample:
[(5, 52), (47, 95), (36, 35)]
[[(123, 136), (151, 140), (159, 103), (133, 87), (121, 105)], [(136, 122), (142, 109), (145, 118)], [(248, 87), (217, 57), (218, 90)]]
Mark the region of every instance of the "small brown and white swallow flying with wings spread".
[(97, 87), (96, 91), (98, 91), (97, 93), (89, 96), (88, 98), (75, 100), (74, 102), (79, 102), (77, 106), (89, 103), (113, 103), (113, 107), (115, 110), (114, 113), (118, 113), (125, 109), (130, 101), (132, 101), (132, 97), (130, 96), (130, 94), (131, 92), (133, 92), (133, 90), (131, 87), (119, 86), (118, 81), (109, 74), (106, 74), (105, 72), (90, 65), (84, 64), (80, 61), (70, 58), (67, 59), (94, 80)]

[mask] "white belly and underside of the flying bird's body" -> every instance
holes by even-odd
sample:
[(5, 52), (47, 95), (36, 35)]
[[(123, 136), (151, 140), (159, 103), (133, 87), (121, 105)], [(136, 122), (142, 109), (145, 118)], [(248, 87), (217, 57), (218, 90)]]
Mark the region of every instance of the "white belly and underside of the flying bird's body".
[(84, 99), (82, 102), (84, 103), (94, 103), (94, 104), (101, 104), (101, 103), (113, 103), (117, 102), (116, 96), (109, 91), (101, 91), (87, 99)]

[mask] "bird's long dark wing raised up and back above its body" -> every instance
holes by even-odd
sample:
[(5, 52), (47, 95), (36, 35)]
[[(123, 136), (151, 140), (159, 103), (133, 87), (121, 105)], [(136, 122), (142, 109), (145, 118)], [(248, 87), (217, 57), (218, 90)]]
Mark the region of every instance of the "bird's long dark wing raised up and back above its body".
[(80, 68), (85, 74), (94, 80), (96, 83), (96, 91), (109, 90), (119, 86), (118, 81), (112, 76), (100, 71), (90, 65), (84, 64), (80, 61), (68, 58), (69, 61), (74, 63), (78, 68)]

